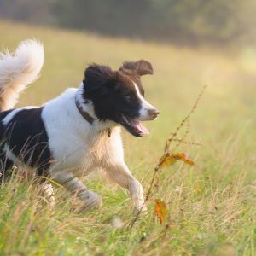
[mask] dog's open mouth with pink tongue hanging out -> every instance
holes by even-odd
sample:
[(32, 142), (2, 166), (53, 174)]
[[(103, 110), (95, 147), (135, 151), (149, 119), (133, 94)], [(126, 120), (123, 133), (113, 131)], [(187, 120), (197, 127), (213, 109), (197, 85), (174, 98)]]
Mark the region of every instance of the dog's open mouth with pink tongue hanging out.
[(138, 119), (122, 116), (120, 124), (135, 137), (142, 137), (143, 135), (149, 134), (148, 129)]

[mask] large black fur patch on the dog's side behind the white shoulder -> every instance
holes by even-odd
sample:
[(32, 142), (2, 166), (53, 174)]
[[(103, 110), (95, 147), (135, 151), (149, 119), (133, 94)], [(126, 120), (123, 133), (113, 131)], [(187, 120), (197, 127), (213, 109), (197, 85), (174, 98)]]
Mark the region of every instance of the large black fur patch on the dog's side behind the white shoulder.
[(38, 175), (47, 175), (51, 154), (42, 110), (43, 107), (20, 110), (6, 125), (2, 137), (20, 161), (37, 168)]

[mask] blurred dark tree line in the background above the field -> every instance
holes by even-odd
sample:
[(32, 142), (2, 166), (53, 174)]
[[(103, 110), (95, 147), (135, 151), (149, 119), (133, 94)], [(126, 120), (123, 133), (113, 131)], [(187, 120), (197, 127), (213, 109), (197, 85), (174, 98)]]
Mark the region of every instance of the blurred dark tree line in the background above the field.
[(0, 0), (0, 17), (178, 44), (253, 36), (253, 0)]

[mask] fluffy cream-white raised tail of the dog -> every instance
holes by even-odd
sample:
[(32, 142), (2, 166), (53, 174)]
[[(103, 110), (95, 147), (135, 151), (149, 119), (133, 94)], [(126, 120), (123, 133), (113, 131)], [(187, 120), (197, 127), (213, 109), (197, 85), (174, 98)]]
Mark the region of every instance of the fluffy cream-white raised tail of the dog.
[(38, 41), (21, 42), (14, 53), (0, 53), (0, 111), (14, 108), (20, 92), (38, 78), (44, 47)]

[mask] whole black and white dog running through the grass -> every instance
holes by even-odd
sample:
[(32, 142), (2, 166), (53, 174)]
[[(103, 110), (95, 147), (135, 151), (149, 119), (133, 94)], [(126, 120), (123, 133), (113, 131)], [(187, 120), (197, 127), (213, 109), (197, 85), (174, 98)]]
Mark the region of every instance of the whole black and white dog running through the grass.
[(43, 64), (44, 48), (35, 40), (22, 42), (13, 54), (0, 55), (2, 178), (12, 165), (36, 170), (78, 193), (83, 210), (89, 210), (102, 200), (79, 177), (102, 168), (129, 190), (135, 211), (145, 210), (142, 185), (125, 165), (120, 126), (141, 137), (148, 130), (140, 121), (159, 114), (144, 99), (140, 80), (153, 73), (151, 64), (128, 61), (118, 71), (90, 65), (78, 89), (67, 89), (41, 107), (14, 109), (20, 91), (37, 79)]

